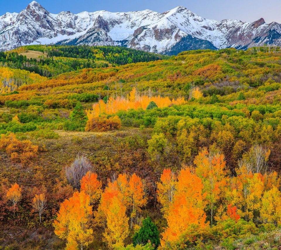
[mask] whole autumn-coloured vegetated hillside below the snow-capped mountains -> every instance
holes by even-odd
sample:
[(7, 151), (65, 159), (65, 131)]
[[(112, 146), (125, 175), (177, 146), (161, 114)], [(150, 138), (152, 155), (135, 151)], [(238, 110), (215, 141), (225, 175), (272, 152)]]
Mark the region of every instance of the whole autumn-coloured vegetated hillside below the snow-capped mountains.
[[(27, 50), (96, 65), (8, 67)], [(3, 249), (281, 245), (280, 48), (38, 45), (5, 63), (32, 81), (0, 95)]]

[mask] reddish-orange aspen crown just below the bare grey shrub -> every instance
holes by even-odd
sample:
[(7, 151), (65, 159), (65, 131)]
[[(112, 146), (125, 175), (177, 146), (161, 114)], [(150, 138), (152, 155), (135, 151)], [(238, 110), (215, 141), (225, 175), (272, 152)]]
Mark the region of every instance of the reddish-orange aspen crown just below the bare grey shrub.
[(87, 174), (81, 179), (81, 191), (85, 191), (90, 196), (90, 204), (96, 203), (102, 193), (102, 182), (97, 179), (97, 174), (87, 172)]

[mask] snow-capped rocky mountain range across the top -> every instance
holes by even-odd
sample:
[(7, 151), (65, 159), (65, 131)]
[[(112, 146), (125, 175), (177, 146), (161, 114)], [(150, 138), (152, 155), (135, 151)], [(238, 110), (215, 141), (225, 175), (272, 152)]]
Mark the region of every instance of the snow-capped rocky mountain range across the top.
[(188, 49), (246, 49), (281, 45), (281, 24), (208, 20), (179, 6), (164, 13), (150, 10), (111, 13), (49, 13), (31, 2), (20, 13), (0, 16), (0, 50), (27, 44), (123, 45), (148, 52), (176, 54)]

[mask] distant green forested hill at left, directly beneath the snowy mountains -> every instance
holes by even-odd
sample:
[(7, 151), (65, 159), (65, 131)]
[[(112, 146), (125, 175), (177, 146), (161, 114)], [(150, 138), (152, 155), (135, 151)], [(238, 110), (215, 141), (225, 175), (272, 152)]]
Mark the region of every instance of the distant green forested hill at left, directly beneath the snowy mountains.
[[(28, 51), (42, 52), (37, 58), (27, 58)], [(121, 47), (90, 47), (63, 45), (29, 45), (10, 52), (0, 52), (0, 67), (24, 69), (44, 77), (84, 68), (106, 68), (129, 63), (155, 61), (167, 56)]]

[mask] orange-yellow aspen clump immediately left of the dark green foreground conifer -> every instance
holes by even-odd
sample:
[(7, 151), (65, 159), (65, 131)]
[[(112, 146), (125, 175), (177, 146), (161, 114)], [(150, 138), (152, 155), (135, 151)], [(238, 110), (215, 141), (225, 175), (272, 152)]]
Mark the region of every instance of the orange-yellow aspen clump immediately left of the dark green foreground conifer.
[(131, 228), (138, 212), (146, 204), (144, 186), (140, 177), (133, 174), (119, 174), (117, 179), (109, 182), (100, 201), (96, 219), (105, 219), (104, 238), (109, 248), (124, 245), (129, 234), (126, 213), (130, 214)]

